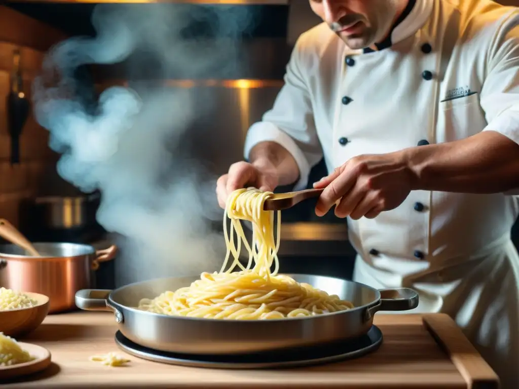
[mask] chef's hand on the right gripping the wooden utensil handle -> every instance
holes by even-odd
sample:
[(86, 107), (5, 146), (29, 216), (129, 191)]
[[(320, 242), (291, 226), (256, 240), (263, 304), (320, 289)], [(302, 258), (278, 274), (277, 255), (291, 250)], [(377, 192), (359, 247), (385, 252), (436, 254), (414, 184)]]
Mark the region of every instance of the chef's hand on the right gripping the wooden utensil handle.
[(399, 152), (351, 158), (313, 184), (324, 188), (316, 206), (322, 216), (334, 204), (335, 215), (374, 218), (398, 207), (412, 189), (413, 174)]

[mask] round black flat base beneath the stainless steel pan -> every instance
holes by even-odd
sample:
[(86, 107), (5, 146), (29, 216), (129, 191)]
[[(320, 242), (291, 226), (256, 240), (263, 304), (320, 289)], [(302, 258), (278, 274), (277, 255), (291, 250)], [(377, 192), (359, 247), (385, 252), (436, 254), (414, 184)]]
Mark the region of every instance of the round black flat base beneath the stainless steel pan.
[(333, 345), (240, 355), (180, 354), (148, 349), (136, 344), (117, 331), (115, 342), (122, 351), (138, 358), (170, 365), (205, 367), (212, 369), (267, 369), (286, 368), (353, 359), (377, 350), (382, 343), (382, 332), (372, 326), (366, 335)]

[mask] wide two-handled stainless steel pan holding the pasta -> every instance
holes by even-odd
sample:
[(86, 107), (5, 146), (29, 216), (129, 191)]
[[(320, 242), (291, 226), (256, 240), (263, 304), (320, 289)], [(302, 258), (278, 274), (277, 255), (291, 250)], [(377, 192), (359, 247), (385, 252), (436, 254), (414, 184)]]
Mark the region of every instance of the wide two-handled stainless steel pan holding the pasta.
[(356, 308), (319, 316), (254, 321), (167, 316), (134, 308), (142, 298), (188, 286), (198, 277), (150, 280), (113, 291), (79, 290), (76, 305), (84, 310), (114, 311), (122, 334), (145, 347), (213, 355), (272, 351), (355, 338), (370, 329), (377, 311), (406, 311), (418, 306), (418, 295), (412, 289), (377, 290), (334, 277), (289, 275), (297, 282), (349, 300)]

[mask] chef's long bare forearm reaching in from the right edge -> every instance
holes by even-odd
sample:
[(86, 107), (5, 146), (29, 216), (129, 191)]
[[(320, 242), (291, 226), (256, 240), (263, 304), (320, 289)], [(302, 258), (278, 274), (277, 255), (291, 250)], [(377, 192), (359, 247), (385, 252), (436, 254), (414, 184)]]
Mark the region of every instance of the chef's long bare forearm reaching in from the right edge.
[(414, 190), (499, 193), (519, 188), (519, 145), (495, 131), (402, 152)]

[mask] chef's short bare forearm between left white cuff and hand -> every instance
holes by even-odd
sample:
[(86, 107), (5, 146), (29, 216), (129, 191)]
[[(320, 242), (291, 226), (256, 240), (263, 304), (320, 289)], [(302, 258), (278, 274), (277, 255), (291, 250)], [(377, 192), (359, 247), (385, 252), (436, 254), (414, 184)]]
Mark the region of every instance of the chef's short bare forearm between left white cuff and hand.
[(259, 168), (274, 168), (280, 186), (293, 184), (299, 177), (299, 168), (294, 157), (276, 142), (261, 142), (255, 145), (249, 154), (249, 162)]

